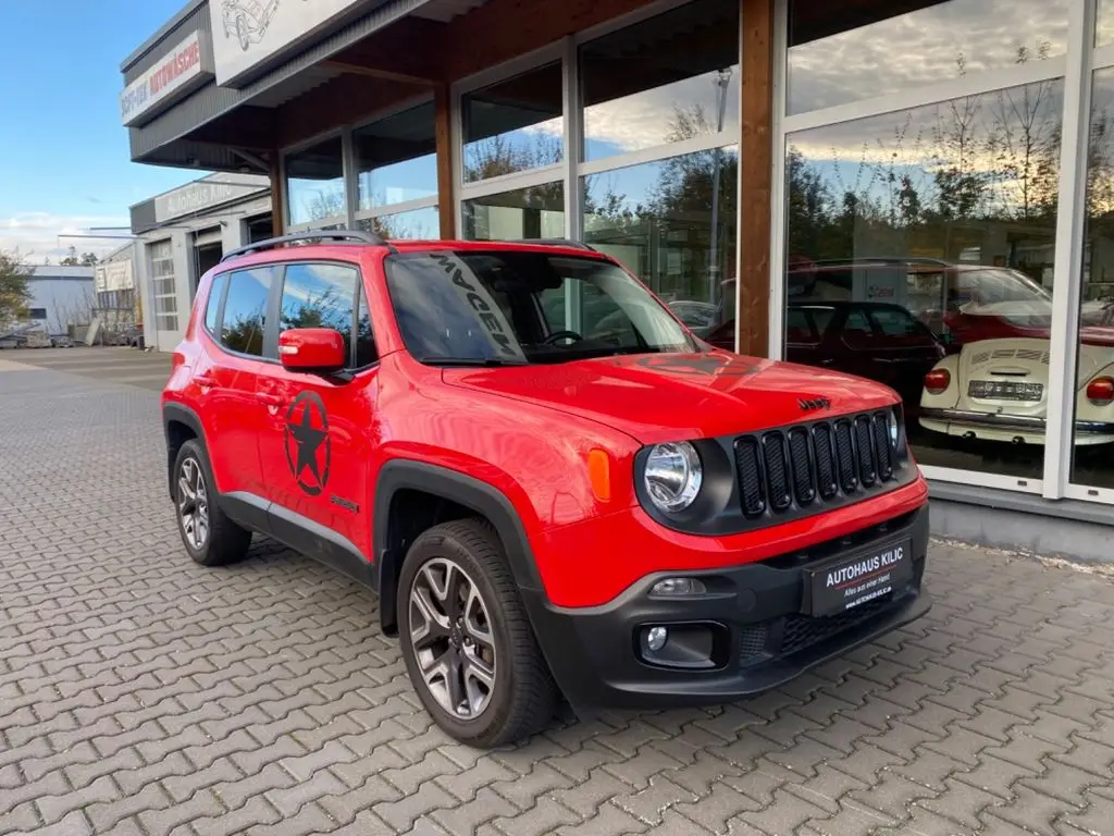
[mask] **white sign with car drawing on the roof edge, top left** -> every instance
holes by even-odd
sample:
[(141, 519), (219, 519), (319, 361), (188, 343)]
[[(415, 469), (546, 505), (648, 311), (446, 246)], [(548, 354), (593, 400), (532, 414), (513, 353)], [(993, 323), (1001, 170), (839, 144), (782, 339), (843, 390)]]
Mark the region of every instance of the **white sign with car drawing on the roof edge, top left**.
[(216, 82), (241, 79), (365, 0), (209, 0)]

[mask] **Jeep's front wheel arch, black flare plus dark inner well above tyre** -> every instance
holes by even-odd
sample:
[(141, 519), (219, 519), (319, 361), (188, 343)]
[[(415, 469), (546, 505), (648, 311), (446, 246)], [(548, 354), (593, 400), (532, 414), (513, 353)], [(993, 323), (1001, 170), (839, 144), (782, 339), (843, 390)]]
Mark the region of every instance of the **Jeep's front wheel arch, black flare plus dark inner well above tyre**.
[[(402, 518), (402, 498), (428, 497), (447, 504), (428, 519), (407, 526)], [(383, 465), (375, 483), (373, 550), (379, 577), (379, 616), (388, 635), (398, 632), (395, 595), (405, 550), (424, 522), (444, 522), (463, 516), (480, 516), (495, 528), (507, 554), (510, 571), (519, 587), (540, 590), (541, 579), (522, 521), (510, 498), (495, 486), (439, 465), (395, 459)], [(444, 516), (440, 516), (444, 514)], [(418, 522), (418, 525), (413, 523)]]

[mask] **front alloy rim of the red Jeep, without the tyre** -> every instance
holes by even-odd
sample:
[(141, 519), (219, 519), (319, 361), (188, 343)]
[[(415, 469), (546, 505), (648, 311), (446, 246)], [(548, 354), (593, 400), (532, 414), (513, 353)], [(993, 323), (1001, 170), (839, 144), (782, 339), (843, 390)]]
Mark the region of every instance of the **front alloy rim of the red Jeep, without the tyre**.
[(457, 563), (437, 557), (410, 589), (410, 641), (422, 680), (458, 720), (475, 720), (491, 702), (496, 647), (488, 607)]

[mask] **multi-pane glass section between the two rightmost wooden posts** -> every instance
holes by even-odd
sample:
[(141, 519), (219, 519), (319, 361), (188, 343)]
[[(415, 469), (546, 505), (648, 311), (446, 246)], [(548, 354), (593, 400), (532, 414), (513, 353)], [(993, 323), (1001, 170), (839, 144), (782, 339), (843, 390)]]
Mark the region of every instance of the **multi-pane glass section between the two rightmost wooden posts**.
[(698, 333), (732, 321), (739, 8), (657, 3), (457, 85), (461, 234), (585, 241)]

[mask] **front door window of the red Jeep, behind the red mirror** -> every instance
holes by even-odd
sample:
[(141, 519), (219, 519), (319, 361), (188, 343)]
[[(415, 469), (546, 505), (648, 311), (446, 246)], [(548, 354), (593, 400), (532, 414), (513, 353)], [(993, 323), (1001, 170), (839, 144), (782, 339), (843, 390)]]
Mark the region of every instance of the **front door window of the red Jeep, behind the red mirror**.
[(375, 359), (375, 349), (371, 317), (360, 290), (360, 272), (355, 268), (344, 264), (287, 265), (280, 331), (331, 328), (344, 338), (349, 367), (369, 366)]

